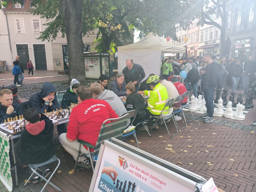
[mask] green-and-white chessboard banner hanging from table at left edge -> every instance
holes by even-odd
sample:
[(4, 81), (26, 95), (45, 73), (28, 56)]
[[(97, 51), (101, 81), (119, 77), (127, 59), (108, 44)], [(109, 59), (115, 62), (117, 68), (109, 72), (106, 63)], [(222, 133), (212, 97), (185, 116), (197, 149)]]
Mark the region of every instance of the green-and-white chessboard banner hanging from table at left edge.
[(9, 149), (9, 135), (0, 131), (0, 180), (9, 191), (12, 191)]

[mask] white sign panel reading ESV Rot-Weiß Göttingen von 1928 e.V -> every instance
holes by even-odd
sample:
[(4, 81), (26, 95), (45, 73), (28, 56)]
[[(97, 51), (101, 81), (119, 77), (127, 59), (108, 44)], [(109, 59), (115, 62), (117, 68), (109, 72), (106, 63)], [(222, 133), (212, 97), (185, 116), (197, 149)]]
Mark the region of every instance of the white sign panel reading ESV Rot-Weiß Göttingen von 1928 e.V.
[[(110, 155), (111, 154), (111, 155)], [(94, 172), (95, 173), (95, 172)], [(170, 190), (171, 189), (171, 190)], [(192, 192), (191, 188), (105, 146), (93, 192)]]

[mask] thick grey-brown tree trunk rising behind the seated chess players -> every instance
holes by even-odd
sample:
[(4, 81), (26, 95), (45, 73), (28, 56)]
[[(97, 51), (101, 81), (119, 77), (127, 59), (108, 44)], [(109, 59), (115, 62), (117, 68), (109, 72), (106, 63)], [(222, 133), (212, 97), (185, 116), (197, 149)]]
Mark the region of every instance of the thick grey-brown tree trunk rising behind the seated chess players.
[(66, 37), (68, 42), (69, 83), (74, 78), (85, 85), (85, 65), (83, 58), (84, 45), (82, 39), (83, 0), (61, 0), (61, 7), (65, 19)]

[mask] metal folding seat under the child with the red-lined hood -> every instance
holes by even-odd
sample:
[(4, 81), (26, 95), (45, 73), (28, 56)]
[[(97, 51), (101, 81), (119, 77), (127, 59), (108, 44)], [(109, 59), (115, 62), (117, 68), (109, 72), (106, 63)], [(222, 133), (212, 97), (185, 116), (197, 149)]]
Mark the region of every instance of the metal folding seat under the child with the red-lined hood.
[[(49, 177), (48, 180), (47, 180), (43, 175), (40, 175), (39, 173), (36, 172), (37, 169), (40, 170), (38, 167), (47, 165), (47, 164), (52, 163), (52, 162), (54, 162), (54, 161), (58, 161), (59, 163), (58, 163), (57, 167), (54, 169), (54, 171), (52, 172), (52, 174), (51, 174), (51, 176)], [(34, 173), (35, 173), (37, 176), (39, 176), (39, 177), (41, 178), (40, 181), (42, 181), (42, 180), (45, 180), (45, 181), (46, 181), (46, 183), (45, 183), (44, 187), (42, 188), (41, 192), (44, 190), (44, 188), (46, 187), (46, 185), (47, 185), (48, 183), (49, 183), (52, 187), (54, 187), (54, 188), (58, 189), (59, 191), (61, 191), (60, 188), (58, 188), (57, 186), (55, 186), (54, 184), (52, 184), (52, 183), (50, 182), (50, 179), (52, 178), (52, 176), (54, 175), (54, 173), (57, 171), (59, 165), (60, 165), (60, 159), (58, 159), (55, 155), (52, 156), (52, 158), (50, 158), (48, 161), (46, 161), (46, 162), (44, 162), (44, 163), (28, 164), (28, 167), (31, 169), (31, 171), (33, 171), (33, 173), (30, 175), (30, 177), (28, 178), (28, 180), (27, 180), (27, 182), (24, 184), (24, 186), (27, 185), (28, 181), (32, 178), (32, 176), (33, 176)], [(40, 170), (40, 171), (41, 171), (41, 170)]]

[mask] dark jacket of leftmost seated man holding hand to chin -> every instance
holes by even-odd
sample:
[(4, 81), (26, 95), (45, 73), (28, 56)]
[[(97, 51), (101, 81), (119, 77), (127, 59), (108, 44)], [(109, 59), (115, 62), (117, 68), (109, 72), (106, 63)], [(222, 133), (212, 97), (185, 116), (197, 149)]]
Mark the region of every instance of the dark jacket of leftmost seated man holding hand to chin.
[(23, 110), (22, 107), (20, 106), (20, 104), (16, 103), (13, 100), (13, 104), (12, 104), (14, 111), (12, 112), (12, 114), (7, 114), (7, 108), (5, 106), (3, 106), (0, 102), (0, 123), (4, 123), (4, 120), (7, 118), (11, 118), (11, 117), (15, 117), (15, 116), (19, 116), (23, 114)]

